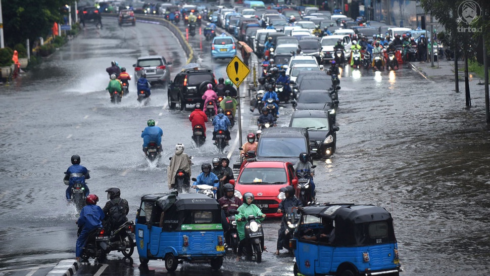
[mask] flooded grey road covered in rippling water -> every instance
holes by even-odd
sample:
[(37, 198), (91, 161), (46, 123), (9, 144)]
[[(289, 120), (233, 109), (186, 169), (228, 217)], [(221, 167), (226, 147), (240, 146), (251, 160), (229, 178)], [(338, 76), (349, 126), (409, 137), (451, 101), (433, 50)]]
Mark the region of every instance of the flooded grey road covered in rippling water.
[[(185, 57), (161, 26), (121, 28), (115, 19), (106, 21), (102, 30), (87, 25), (40, 68), (0, 87), (0, 274), (74, 258), (76, 210), (66, 204), (62, 182), (71, 155), (79, 154), (91, 170), (88, 186), (100, 205), (106, 189), (121, 189), (129, 217), (142, 195), (167, 191), (166, 167), (176, 143), (194, 156), (192, 175), (219, 155), (209, 142), (192, 146), (190, 111), (169, 110), (164, 87), (152, 90), (148, 106), (136, 101), (134, 82), (120, 105), (110, 103), (104, 88), (111, 60), (132, 74), (137, 57), (163, 55), (173, 63), (173, 79)], [(225, 77), (227, 62), (211, 62), (210, 42), (197, 33), (189, 42), (201, 49), (201, 64)], [(464, 94), (454, 93), (449, 79), (427, 80), (407, 67), (342, 72), (337, 151), (315, 163), (317, 198), (390, 211), (404, 275), (489, 274), (489, 129), (483, 86), (474, 82), (473, 107), (465, 109)], [(248, 106), (242, 108), (247, 126), (252, 114)], [(284, 105), (278, 124), (287, 125), (291, 113)], [(146, 162), (141, 152), (139, 135), (150, 118), (164, 130), (157, 164)], [(262, 264), (235, 263), (230, 257), (218, 273), (209, 265), (184, 264), (175, 275), (292, 275), (291, 258), (272, 255), (279, 223), (264, 223), (269, 249)], [(150, 261), (147, 271), (138, 269), (137, 253), (133, 258), (133, 266), (116, 268), (122, 254), (111, 253), (103, 275), (167, 274), (161, 261)], [(91, 273), (84, 267), (77, 274)]]

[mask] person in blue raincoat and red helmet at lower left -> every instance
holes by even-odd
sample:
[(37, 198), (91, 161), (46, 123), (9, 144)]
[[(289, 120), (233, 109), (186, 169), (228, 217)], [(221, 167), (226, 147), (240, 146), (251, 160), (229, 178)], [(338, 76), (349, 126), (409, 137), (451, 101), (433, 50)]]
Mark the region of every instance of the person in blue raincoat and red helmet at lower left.
[(77, 262), (80, 261), (83, 247), (87, 242), (88, 234), (95, 228), (102, 228), (102, 220), (104, 219), (104, 211), (100, 206), (97, 206), (99, 197), (96, 195), (88, 195), (85, 199), (85, 205), (80, 211), (80, 217), (77, 220), (78, 228), (82, 228), (80, 236), (77, 238), (75, 256)]

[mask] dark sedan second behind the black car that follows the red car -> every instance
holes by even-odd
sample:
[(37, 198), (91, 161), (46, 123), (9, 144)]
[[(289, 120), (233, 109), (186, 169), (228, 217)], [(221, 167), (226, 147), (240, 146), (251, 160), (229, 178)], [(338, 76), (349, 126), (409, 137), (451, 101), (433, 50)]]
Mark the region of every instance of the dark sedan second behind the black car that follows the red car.
[[(291, 104), (296, 110), (322, 110), (330, 113), (333, 123), (335, 123), (335, 102), (329, 90), (300, 90), (297, 100), (292, 100)], [(262, 137), (262, 136), (261, 136)]]

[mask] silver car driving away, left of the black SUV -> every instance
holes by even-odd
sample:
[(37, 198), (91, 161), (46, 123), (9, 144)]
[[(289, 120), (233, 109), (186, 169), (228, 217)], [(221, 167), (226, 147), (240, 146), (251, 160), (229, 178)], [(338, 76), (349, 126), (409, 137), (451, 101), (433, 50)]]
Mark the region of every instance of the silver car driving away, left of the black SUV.
[(167, 62), (162, 56), (139, 57), (134, 67), (134, 80), (141, 77), (141, 73), (146, 73), (146, 79), (150, 83), (162, 83), (166, 85), (170, 81), (170, 70), (167, 68), (172, 62)]

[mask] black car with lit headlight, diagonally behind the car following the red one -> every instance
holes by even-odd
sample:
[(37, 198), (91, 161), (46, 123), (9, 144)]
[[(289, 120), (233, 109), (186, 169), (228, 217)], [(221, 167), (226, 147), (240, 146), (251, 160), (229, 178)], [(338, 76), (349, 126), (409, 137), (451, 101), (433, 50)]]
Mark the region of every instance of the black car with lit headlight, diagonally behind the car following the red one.
[(335, 153), (337, 144), (336, 131), (328, 112), (318, 110), (296, 110), (289, 121), (290, 127), (305, 127), (310, 136), (310, 146), (317, 154), (315, 158), (329, 158)]

